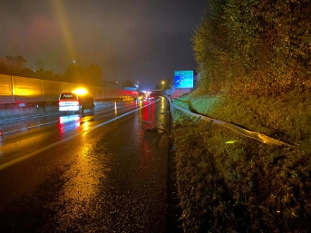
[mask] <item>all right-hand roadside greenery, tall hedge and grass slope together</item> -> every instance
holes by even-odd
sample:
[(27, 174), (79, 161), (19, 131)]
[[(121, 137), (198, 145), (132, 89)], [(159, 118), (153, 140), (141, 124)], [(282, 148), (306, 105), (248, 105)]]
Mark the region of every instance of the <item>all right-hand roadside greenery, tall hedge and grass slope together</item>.
[(209, 1), (193, 36), (199, 81), (173, 102), (291, 146), (175, 109), (185, 232), (311, 228), (310, 13), (308, 1)]

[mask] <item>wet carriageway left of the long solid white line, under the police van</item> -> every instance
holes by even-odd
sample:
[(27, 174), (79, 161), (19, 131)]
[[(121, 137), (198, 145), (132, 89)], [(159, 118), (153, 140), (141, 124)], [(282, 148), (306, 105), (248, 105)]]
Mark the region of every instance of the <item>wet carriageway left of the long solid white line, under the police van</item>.
[[(21, 118), (0, 122), (0, 169), (10, 160), (23, 157), (25, 154), (42, 150), (57, 141), (71, 138), (79, 132), (87, 131), (96, 124), (109, 121), (126, 112), (142, 107), (148, 102), (109, 102), (94, 113), (68, 114), (60, 116), (51, 113), (44, 116)], [(2, 166), (2, 167), (1, 167)]]

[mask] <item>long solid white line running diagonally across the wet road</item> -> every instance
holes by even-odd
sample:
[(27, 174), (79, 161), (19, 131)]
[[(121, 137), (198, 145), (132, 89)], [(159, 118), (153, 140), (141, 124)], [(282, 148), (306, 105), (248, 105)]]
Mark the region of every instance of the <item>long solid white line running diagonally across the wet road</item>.
[[(160, 100), (160, 99), (159, 99), (159, 100)], [(159, 100), (157, 100), (156, 102), (158, 102)], [(153, 102), (151, 102), (151, 103), (153, 103)], [(79, 136), (79, 135), (81, 135), (81, 134), (83, 134), (83, 133), (84, 133), (84, 134), (87, 134), (89, 131), (93, 131), (93, 130), (95, 130), (95, 129), (101, 127), (102, 125), (105, 125), (105, 124), (108, 124), (108, 123), (110, 123), (110, 122), (112, 122), (112, 121), (118, 120), (118, 119), (120, 119), (121, 117), (124, 117), (124, 116), (126, 116), (126, 115), (128, 115), (128, 114), (130, 114), (130, 113), (132, 113), (132, 112), (139, 111), (140, 109), (145, 108), (145, 107), (151, 105), (151, 103), (149, 103), (149, 104), (147, 104), (147, 105), (145, 105), (145, 106), (142, 106), (141, 108), (135, 109), (135, 110), (133, 110), (133, 111), (131, 111), (131, 112), (126, 112), (126, 113), (124, 113), (124, 114), (122, 114), (122, 115), (120, 115), (120, 116), (118, 116), (118, 117), (116, 117), (116, 118), (113, 118), (113, 119), (109, 120), (109, 121), (104, 121), (104, 122), (102, 122), (101, 124), (98, 124), (98, 125), (96, 125), (96, 126), (90, 128), (90, 130), (88, 130), (88, 131), (86, 131), (86, 132), (79, 132), (79, 133), (77, 133), (77, 134), (74, 134), (73, 136), (70, 136), (70, 137), (68, 137), (68, 138), (63, 139), (62, 141), (54, 142), (54, 143), (52, 143), (52, 144), (50, 144), (50, 145), (48, 145), (48, 146), (46, 146), (46, 147), (43, 147), (43, 148), (41, 148), (41, 149), (39, 149), (39, 150), (35, 150), (35, 151), (31, 152), (31, 153), (25, 154), (24, 156), (19, 157), (19, 158), (15, 159), (15, 160), (10, 160), (10, 161), (8, 161), (8, 162), (5, 162), (4, 164), (1, 164), (1, 165), (0, 165), (0, 170), (3, 170), (3, 169), (5, 169), (5, 168), (7, 168), (7, 167), (10, 167), (10, 166), (14, 165), (14, 164), (17, 163), (17, 162), (20, 162), (20, 161), (26, 160), (26, 159), (28, 159), (28, 158), (31, 158), (31, 157), (33, 157), (34, 155), (36, 155), (36, 154), (38, 154), (38, 153), (40, 153), (40, 152), (43, 152), (44, 150), (48, 150), (48, 149), (50, 149), (50, 148), (53, 148), (54, 146), (57, 146), (57, 145), (63, 143), (64, 141), (70, 141), (70, 140), (72, 140), (73, 138), (75, 138), (75, 137), (77, 137), (77, 136)]]

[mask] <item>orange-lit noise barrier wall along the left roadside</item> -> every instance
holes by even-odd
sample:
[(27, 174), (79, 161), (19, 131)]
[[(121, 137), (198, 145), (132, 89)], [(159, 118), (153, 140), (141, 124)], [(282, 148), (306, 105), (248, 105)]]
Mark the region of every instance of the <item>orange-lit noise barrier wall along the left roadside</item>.
[(57, 102), (61, 92), (85, 88), (94, 100), (124, 99), (138, 92), (78, 83), (64, 83), (0, 74), (0, 104), (24, 102)]

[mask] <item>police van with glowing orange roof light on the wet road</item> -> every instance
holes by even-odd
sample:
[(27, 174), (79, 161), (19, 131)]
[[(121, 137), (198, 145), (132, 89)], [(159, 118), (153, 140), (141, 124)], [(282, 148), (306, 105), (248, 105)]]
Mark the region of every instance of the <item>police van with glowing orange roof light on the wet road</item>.
[(86, 109), (93, 112), (94, 106), (93, 98), (87, 92), (63, 92), (58, 101), (58, 110), (61, 113), (79, 112), (83, 114)]

